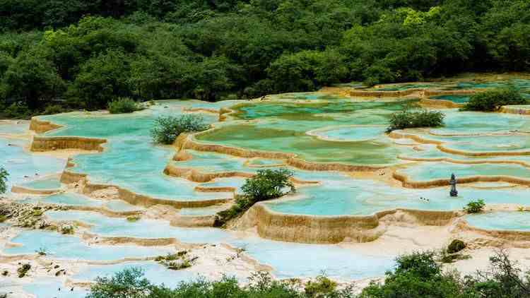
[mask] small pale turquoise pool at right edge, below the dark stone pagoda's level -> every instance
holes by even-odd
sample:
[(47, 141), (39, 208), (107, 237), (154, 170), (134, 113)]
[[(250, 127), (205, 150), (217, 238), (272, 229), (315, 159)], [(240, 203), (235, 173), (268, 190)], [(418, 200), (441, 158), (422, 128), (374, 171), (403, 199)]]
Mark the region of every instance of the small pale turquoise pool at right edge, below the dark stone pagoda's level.
[(497, 211), (466, 215), (466, 221), (473, 227), (485, 230), (530, 231), (530, 213), (518, 211)]

